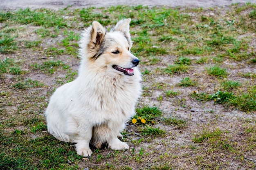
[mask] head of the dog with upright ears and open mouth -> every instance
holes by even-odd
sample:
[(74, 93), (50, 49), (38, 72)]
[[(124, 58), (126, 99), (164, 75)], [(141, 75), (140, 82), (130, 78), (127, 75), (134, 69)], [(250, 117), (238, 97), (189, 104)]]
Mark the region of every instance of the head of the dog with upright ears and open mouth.
[(97, 21), (85, 29), (80, 43), (80, 57), (87, 59), (88, 67), (98, 67), (111, 74), (134, 75), (139, 59), (130, 52), (130, 21), (120, 20), (109, 32)]

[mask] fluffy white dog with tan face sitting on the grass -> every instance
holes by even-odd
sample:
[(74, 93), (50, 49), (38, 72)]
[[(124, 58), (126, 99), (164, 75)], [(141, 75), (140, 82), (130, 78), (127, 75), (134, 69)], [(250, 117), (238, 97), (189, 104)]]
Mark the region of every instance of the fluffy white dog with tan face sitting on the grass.
[(45, 112), (48, 132), (76, 143), (78, 155), (90, 157), (89, 144), (129, 148), (118, 137), (125, 122), (135, 115), (141, 94), (139, 60), (130, 53), (130, 21), (119, 21), (109, 32), (96, 21), (85, 29), (79, 43), (79, 75), (57, 88), (49, 101)]

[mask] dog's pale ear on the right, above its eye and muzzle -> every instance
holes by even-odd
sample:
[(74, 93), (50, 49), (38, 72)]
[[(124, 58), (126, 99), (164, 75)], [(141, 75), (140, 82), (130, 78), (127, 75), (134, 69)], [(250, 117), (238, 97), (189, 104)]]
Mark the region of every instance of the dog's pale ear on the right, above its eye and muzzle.
[(130, 36), (130, 31), (129, 31), (130, 22), (131, 22), (130, 18), (120, 20), (119, 22), (117, 22), (116, 26), (112, 29), (112, 31), (121, 31), (122, 33), (124, 33), (124, 36), (127, 39), (130, 47), (132, 47), (132, 40)]

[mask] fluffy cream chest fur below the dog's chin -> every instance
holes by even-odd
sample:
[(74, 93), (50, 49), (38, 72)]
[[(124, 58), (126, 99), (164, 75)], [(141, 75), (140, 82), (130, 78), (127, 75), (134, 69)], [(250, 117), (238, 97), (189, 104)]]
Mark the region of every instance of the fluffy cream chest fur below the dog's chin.
[[(139, 71), (138, 71), (139, 72)], [(85, 78), (85, 77), (84, 77)], [(80, 77), (84, 81), (83, 77)], [(87, 77), (88, 78), (88, 77)], [(126, 121), (132, 117), (135, 104), (141, 93), (140, 75), (116, 77), (90, 77), (79, 87), (79, 100), (95, 119), (100, 122)]]

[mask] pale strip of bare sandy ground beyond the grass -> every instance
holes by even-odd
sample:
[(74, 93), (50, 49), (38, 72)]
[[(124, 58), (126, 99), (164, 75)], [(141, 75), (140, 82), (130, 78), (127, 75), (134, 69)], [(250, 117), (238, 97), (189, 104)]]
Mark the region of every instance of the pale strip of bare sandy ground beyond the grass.
[(232, 3), (256, 3), (256, 0), (0, 0), (0, 9), (18, 10), (27, 7), (31, 9), (47, 8), (61, 9), (67, 6), (73, 8), (88, 7), (110, 7), (116, 5), (139, 5), (148, 7), (166, 5), (170, 7), (188, 6), (188, 7), (214, 7), (226, 6)]

